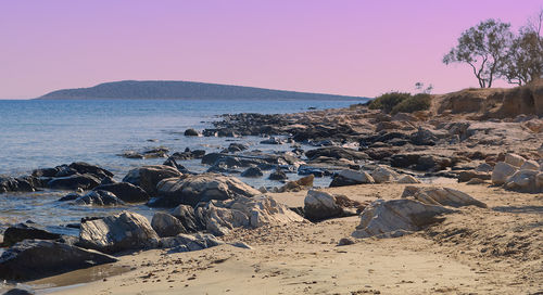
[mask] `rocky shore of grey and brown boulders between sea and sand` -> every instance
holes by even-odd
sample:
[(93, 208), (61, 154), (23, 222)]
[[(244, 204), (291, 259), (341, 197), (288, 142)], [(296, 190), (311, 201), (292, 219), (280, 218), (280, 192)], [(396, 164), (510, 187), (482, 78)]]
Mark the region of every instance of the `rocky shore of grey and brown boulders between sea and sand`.
[[(541, 89), (533, 93), (540, 95)], [(507, 99), (509, 93), (503, 95)], [(462, 106), (450, 102), (459, 99), (444, 95), (433, 99), (440, 105), (412, 114), (390, 115), (352, 105), (285, 115), (224, 115), (213, 123), (214, 128), (201, 132), (189, 129), (185, 136), (261, 137), (261, 144), (288, 144), (290, 150), (264, 153), (230, 143), (218, 153), (188, 149), (172, 155), (167, 150), (125, 153), (121, 156), (165, 157), (165, 162), (135, 168), (121, 182), (111, 171), (80, 162), (36, 169), (25, 177), (2, 177), (0, 193), (63, 190), (67, 194), (59, 202), (75, 206), (144, 203), (160, 209), (152, 220), (129, 210), (83, 218), (74, 225), (78, 236), (48, 232), (38, 225), (13, 225), (2, 234), (7, 248), (0, 257), (0, 279), (28, 282), (112, 264), (138, 251), (177, 255), (210, 247), (252, 249), (252, 242), (261, 242), (244, 238), (263, 229), (311, 228), (314, 222), (328, 225), (354, 217), (359, 217), (358, 225), (351, 225), (349, 234), (337, 236), (331, 246), (356, 246), (367, 239), (420, 231), (428, 235), (425, 239), (443, 242), (450, 230), (444, 220), (451, 216), (454, 220), (458, 215), (471, 218), (481, 210), (481, 216), (489, 210), (500, 213), (492, 200), (478, 200), (456, 187), (424, 184), (420, 180), (425, 178), (445, 177), (466, 183), (464, 189), (473, 185), (484, 192), (500, 190), (528, 198), (528, 206), (534, 208), (530, 214), (541, 216), (543, 119), (541, 114), (489, 119), (489, 114), (507, 110), (506, 99), (502, 113), (472, 106), (469, 112), (456, 112)], [(541, 95), (536, 99), (543, 100)], [(447, 103), (453, 107), (443, 108)], [(302, 150), (302, 144), (312, 149)], [(206, 172), (186, 169), (182, 162), (188, 159), (201, 161)], [(252, 188), (235, 177), (260, 178), (263, 171), (278, 185)], [(292, 175), (298, 175), (296, 179)], [(330, 189), (314, 188), (315, 178), (330, 178)], [(374, 192), (387, 185), (400, 191), (384, 196)], [(350, 188), (374, 192), (377, 198), (359, 198)], [(350, 193), (334, 193), (334, 189)], [(302, 194), (303, 204), (281, 202), (281, 195), (294, 198), (296, 194)], [(541, 240), (541, 222), (532, 228), (519, 223), (518, 231), (534, 233)], [(247, 236), (240, 235), (242, 232)], [(525, 246), (532, 262), (541, 261), (536, 245)], [(540, 270), (526, 271), (527, 282), (541, 277)]]

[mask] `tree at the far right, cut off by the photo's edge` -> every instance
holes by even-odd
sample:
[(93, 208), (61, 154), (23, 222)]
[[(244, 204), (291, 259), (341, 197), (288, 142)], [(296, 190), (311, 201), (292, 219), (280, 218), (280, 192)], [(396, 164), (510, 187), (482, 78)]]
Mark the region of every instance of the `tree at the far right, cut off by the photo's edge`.
[(518, 37), (512, 41), (501, 73), (509, 84), (528, 84), (543, 74), (542, 23), (543, 9), (519, 29)]

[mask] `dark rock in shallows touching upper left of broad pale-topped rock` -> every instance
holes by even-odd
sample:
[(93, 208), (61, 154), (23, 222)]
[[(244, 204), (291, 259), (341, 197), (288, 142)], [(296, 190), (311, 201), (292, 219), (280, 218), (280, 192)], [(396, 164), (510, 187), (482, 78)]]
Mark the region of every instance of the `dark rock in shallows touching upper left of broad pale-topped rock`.
[(165, 165), (150, 165), (140, 168), (131, 169), (123, 178), (123, 182), (129, 182), (134, 185), (140, 187), (149, 195), (156, 195), (156, 184), (163, 179), (180, 177), (181, 174), (169, 166)]

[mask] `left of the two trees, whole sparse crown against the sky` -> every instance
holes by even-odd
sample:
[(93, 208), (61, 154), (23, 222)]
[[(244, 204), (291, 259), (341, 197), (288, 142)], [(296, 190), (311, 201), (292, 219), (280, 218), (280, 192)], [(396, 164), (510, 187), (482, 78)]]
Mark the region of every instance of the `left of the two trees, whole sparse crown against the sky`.
[(507, 48), (512, 43), (510, 24), (500, 20), (487, 20), (465, 30), (458, 44), (443, 56), (443, 63), (467, 63), (481, 88), (492, 87), (507, 59)]

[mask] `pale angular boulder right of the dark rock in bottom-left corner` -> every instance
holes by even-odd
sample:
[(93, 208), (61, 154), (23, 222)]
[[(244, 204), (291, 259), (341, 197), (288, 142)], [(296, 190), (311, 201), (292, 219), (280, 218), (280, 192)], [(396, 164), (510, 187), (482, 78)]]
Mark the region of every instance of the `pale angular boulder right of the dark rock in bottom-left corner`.
[(153, 248), (159, 235), (146, 217), (130, 211), (81, 222), (79, 245), (103, 253)]

